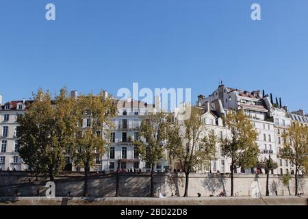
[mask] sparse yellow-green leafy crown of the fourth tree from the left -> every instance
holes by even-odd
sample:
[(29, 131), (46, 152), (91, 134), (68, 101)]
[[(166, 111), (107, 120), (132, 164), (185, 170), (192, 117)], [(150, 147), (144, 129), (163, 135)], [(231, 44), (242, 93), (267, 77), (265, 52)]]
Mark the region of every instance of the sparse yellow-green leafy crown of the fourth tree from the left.
[(168, 132), (169, 155), (181, 164), (186, 174), (199, 165), (207, 164), (216, 154), (217, 136), (214, 131), (204, 129), (202, 114), (202, 110), (192, 108), (190, 118), (184, 123), (172, 124)]

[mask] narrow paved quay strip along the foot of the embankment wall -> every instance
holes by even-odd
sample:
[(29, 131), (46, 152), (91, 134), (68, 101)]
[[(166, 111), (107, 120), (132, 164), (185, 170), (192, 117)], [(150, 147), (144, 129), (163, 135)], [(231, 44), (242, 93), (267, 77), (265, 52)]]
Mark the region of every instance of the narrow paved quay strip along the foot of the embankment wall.
[(308, 205), (308, 196), (204, 198), (0, 198), (0, 205)]

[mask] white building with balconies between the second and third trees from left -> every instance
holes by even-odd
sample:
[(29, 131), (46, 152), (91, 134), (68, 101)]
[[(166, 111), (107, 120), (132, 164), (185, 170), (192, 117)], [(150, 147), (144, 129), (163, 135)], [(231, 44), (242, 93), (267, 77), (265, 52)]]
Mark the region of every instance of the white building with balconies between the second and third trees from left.
[[(108, 95), (107, 92), (105, 95)], [(119, 168), (124, 172), (135, 170), (149, 172), (151, 166), (142, 161), (131, 141), (139, 139), (142, 116), (149, 112), (153, 105), (148, 105), (142, 101), (135, 101), (131, 98), (126, 100), (114, 99), (114, 101), (118, 107), (118, 116), (111, 119), (113, 127), (110, 127), (110, 134), (103, 136), (103, 138), (109, 139), (110, 142), (107, 146), (107, 153), (102, 157), (97, 155), (95, 158), (95, 167), (91, 168), (91, 170), (114, 172)], [(85, 118), (84, 127), (89, 122), (90, 118)], [(164, 171), (164, 167), (166, 166), (168, 166), (167, 159), (163, 159), (160, 164), (155, 166), (154, 170)], [(73, 170), (82, 171), (83, 168), (74, 166), (73, 164)]]

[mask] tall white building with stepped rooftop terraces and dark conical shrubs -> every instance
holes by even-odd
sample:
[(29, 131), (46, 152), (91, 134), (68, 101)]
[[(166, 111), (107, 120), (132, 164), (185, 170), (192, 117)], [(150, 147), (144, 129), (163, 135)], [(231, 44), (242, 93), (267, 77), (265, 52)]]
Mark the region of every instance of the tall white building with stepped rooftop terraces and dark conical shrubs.
[[(259, 162), (265, 162), (269, 156), (277, 162), (278, 149), (275, 140), (274, 123), (268, 115), (269, 110), (266, 107), (266, 101), (266, 98), (260, 96), (259, 90), (243, 92), (242, 90), (220, 85), (207, 98), (199, 95), (197, 105), (205, 107), (209, 104), (216, 110), (216, 114), (219, 116), (225, 115), (228, 110), (244, 110), (244, 113), (251, 117), (255, 129), (259, 133), (257, 138), (257, 144), (260, 149)], [(231, 162), (229, 162), (230, 164)], [(255, 172), (255, 170), (242, 170), (238, 168), (235, 172), (250, 173)], [(272, 173), (277, 174), (278, 170), (273, 170)]]

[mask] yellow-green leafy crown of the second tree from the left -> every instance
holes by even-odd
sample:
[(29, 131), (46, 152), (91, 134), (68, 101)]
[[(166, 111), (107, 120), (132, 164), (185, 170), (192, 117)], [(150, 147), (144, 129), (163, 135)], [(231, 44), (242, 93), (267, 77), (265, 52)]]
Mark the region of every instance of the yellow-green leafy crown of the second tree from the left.
[[(76, 101), (77, 138), (73, 144), (75, 164), (88, 169), (94, 166), (96, 156), (106, 151), (107, 127), (112, 126), (110, 118), (116, 116), (116, 106), (111, 99), (104, 99), (103, 94), (79, 96)], [(90, 119), (90, 125), (83, 127), (83, 120)]]

